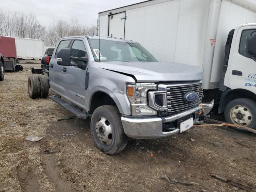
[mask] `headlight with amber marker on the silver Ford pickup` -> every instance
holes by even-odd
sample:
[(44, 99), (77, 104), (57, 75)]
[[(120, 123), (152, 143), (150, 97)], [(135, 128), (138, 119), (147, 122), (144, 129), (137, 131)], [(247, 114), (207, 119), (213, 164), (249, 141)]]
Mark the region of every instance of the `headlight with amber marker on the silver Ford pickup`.
[(156, 90), (154, 83), (137, 83), (127, 85), (127, 96), (132, 106), (132, 115), (156, 115), (157, 112), (147, 105), (148, 90)]

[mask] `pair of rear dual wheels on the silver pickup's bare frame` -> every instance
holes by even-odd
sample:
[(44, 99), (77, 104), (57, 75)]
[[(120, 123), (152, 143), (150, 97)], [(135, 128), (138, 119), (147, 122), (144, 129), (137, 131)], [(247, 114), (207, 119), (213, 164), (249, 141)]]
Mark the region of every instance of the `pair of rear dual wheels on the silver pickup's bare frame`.
[(44, 75), (28, 76), (28, 95), (32, 99), (46, 98), (49, 92), (48, 78)]

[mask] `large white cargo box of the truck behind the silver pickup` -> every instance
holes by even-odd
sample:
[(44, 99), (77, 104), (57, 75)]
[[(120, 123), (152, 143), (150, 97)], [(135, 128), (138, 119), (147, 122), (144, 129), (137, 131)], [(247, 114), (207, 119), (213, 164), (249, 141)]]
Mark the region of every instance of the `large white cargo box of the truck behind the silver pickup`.
[(248, 0), (149, 0), (100, 12), (98, 36), (139, 42), (162, 62), (200, 66), (204, 89), (218, 88), (228, 32), (256, 22)]

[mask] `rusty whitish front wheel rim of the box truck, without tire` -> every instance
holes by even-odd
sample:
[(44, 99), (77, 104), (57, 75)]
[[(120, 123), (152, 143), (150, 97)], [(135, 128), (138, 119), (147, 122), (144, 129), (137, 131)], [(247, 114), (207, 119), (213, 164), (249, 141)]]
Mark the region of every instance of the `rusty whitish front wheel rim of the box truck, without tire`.
[(252, 122), (252, 113), (247, 107), (237, 105), (230, 110), (230, 118), (234, 124), (248, 126)]

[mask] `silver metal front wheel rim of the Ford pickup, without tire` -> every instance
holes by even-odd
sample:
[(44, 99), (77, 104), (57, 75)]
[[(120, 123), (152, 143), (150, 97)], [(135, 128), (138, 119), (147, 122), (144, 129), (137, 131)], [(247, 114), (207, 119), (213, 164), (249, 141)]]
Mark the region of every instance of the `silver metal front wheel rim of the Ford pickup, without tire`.
[(109, 145), (112, 142), (112, 125), (104, 116), (100, 116), (96, 121), (96, 134), (100, 142)]

